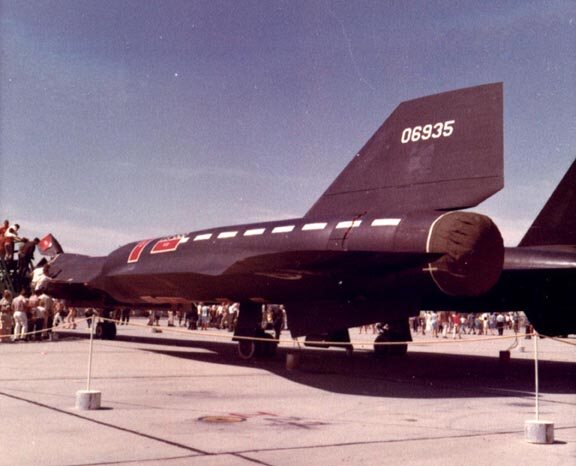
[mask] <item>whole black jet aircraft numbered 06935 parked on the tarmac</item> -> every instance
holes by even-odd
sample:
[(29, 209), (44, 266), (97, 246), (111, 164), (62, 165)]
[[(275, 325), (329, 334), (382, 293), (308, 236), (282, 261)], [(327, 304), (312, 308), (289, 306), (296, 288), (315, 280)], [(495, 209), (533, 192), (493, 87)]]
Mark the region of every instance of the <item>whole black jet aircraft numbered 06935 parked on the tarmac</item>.
[(285, 305), (293, 337), (343, 346), (348, 328), (382, 321), (409, 341), (420, 309), (525, 310), (543, 332), (573, 332), (574, 167), (569, 195), (553, 196), (519, 248), (462, 211), (503, 187), (502, 119), (501, 83), (403, 102), (304, 217), (146, 239), (105, 257), (62, 253), (47, 291), (101, 308), (239, 302), (245, 357), (273, 345), (245, 338), (265, 337), (263, 303)]

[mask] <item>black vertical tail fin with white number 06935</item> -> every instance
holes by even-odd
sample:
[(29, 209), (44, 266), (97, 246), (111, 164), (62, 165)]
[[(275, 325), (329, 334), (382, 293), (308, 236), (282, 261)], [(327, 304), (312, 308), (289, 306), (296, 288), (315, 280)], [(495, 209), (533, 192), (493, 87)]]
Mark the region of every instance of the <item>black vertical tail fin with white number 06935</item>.
[(306, 217), (472, 207), (503, 187), (502, 83), (401, 103)]

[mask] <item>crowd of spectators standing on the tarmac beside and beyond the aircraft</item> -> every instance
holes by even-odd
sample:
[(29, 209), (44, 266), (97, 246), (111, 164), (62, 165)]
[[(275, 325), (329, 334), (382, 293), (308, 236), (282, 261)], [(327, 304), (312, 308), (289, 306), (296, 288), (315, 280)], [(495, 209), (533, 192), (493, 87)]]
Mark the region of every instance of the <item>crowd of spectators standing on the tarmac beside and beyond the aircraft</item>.
[[(147, 324), (154, 332), (159, 331), (161, 320), (167, 327), (184, 327), (189, 330), (209, 328), (233, 332), (239, 315), (239, 304), (177, 304), (168, 310), (152, 309)], [(110, 314), (117, 325), (128, 325), (134, 311), (120, 308)], [(65, 301), (51, 298), (36, 290), (28, 293), (23, 289), (16, 297), (8, 290), (0, 300), (0, 341), (29, 341), (50, 338), (52, 328), (75, 329), (78, 315), (83, 316), (87, 326), (99, 315), (97, 309), (66, 306)], [(376, 324), (360, 327), (362, 333), (376, 333)], [(462, 335), (503, 335), (505, 329), (526, 334), (531, 332), (530, 323), (521, 312), (507, 313), (458, 313), (449, 311), (422, 311), (410, 319), (413, 334), (429, 335), (433, 338), (462, 338)], [(273, 330), (276, 339), (287, 328), (286, 312), (281, 305), (263, 307), (262, 328)]]

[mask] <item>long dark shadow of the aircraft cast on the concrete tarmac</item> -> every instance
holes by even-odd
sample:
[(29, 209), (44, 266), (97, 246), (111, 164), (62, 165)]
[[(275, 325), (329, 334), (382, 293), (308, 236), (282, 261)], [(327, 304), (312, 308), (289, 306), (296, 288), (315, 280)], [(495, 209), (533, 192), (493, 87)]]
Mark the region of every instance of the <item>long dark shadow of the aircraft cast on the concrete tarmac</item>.
[[(292, 382), (328, 392), (393, 398), (503, 397), (516, 399), (534, 392), (534, 362), (514, 359), (501, 362), (497, 356), (410, 352), (404, 357), (377, 358), (372, 352), (347, 356), (338, 349), (303, 348), (296, 370), (286, 368), (288, 348), (276, 355), (245, 361), (236, 344), (169, 338), (120, 337), (119, 340), (178, 349), (141, 348), (155, 354), (210, 364), (251, 367), (269, 371)], [(191, 348), (187, 350), (186, 348)], [(194, 349), (206, 351), (198, 352)], [(540, 393), (576, 394), (576, 364), (540, 361)], [(526, 401), (531, 406), (532, 401)], [(515, 406), (518, 405), (516, 401)]]

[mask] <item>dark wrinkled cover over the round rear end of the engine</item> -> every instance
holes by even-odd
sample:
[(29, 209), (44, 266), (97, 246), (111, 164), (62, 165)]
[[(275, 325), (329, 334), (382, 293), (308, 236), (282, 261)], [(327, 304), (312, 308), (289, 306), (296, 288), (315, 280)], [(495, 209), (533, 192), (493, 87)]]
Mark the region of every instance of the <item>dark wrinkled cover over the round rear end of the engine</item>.
[(485, 215), (449, 212), (428, 233), (427, 252), (443, 256), (429, 264), (434, 283), (452, 296), (478, 296), (492, 288), (502, 272), (504, 241)]

